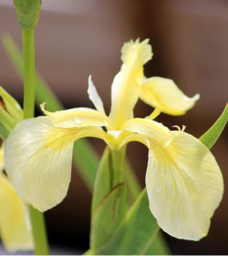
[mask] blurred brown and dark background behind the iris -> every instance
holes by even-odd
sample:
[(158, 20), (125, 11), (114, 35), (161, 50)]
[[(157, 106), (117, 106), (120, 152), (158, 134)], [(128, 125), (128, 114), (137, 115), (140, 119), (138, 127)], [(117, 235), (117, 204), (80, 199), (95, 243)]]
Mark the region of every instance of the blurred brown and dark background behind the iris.
[[(223, 112), (228, 92), (228, 1), (224, 0), (43, 0), (36, 27), (36, 69), (66, 108), (92, 107), (88, 101), (88, 75), (110, 106), (110, 85), (119, 71), (123, 43), (150, 38), (154, 56), (145, 67), (148, 77), (175, 80), (188, 96), (201, 100), (185, 116), (165, 114), (157, 119), (168, 125), (187, 125), (199, 137)], [(13, 1), (0, 0), (0, 36), (9, 33), (21, 47), (21, 28)], [(22, 82), (0, 45), (0, 84), (22, 102)], [(47, 104), (48, 109), (48, 104)], [(142, 102), (135, 115), (151, 108)], [(227, 130), (212, 147), (228, 186)], [(105, 144), (90, 141), (101, 155)], [(147, 150), (130, 144), (131, 163), (144, 187)], [(46, 213), (53, 248), (78, 254), (88, 249), (91, 195), (76, 171), (66, 199)], [(199, 242), (176, 240), (164, 234), (173, 254), (228, 254), (228, 193), (212, 218), (209, 235)], [(55, 251), (57, 254), (57, 251)]]

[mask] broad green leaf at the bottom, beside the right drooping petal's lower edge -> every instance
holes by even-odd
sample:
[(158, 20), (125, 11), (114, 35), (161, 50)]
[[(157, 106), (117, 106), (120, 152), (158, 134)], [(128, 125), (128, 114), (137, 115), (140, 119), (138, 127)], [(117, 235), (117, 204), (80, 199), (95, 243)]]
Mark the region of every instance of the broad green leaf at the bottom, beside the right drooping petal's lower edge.
[(150, 213), (147, 192), (144, 189), (110, 239), (103, 246), (89, 253), (168, 254), (165, 244), (161, 244), (161, 235), (157, 238), (158, 232), (159, 226)]

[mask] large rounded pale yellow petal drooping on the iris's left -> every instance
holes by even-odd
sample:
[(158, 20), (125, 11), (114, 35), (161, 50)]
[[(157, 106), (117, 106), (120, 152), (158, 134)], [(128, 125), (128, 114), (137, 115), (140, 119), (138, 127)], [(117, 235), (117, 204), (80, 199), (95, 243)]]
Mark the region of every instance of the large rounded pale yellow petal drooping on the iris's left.
[(18, 123), (5, 141), (5, 170), (17, 194), (40, 211), (66, 197), (74, 133), (48, 117)]

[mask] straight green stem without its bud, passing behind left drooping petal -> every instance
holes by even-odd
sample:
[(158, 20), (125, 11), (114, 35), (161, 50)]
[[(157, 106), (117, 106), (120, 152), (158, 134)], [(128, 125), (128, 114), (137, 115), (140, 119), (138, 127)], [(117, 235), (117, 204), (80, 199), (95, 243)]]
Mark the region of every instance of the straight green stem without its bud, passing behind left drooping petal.
[[(35, 109), (35, 30), (22, 30), (23, 59), (24, 59), (24, 119), (34, 117)], [(47, 233), (42, 212), (32, 206), (29, 208), (29, 217), (32, 225), (32, 234), (36, 255), (47, 255)]]

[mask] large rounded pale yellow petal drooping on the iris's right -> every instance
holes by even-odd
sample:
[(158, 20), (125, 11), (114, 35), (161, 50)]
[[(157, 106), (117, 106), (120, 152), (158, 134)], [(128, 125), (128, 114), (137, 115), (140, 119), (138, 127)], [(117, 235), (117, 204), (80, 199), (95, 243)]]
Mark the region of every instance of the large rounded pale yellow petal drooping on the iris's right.
[(199, 140), (188, 133), (171, 133), (166, 147), (150, 143), (146, 175), (150, 210), (171, 236), (200, 240), (223, 197), (223, 176)]

